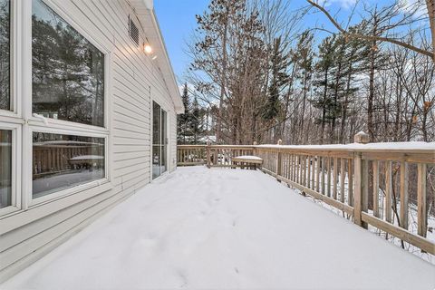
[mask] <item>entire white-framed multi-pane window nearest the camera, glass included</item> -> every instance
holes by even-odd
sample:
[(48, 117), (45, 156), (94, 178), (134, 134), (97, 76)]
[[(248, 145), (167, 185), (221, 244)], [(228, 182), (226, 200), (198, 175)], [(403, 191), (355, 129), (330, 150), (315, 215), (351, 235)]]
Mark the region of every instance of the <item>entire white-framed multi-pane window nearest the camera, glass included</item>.
[(0, 0), (0, 218), (112, 187), (111, 43), (51, 3)]

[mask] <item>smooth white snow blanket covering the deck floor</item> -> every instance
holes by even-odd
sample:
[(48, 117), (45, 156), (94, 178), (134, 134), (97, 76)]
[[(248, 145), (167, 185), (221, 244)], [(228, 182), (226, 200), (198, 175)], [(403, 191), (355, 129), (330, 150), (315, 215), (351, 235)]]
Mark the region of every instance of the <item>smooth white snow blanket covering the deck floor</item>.
[(0, 289), (433, 289), (435, 266), (259, 171), (179, 168)]

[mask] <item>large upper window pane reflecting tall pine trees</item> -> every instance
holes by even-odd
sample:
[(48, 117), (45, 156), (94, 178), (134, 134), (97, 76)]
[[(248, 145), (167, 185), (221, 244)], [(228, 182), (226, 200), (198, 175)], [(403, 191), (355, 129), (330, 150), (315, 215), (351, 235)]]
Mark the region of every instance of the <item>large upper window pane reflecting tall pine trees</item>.
[(104, 126), (104, 54), (40, 0), (33, 1), (32, 55), (34, 113)]

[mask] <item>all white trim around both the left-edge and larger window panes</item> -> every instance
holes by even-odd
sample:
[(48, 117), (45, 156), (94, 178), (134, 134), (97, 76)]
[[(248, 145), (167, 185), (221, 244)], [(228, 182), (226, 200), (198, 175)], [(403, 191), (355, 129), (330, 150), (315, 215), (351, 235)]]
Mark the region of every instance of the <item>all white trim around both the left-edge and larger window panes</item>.
[[(86, 26), (82, 19), (73, 19), (68, 7), (43, 0), (56, 14), (73, 26), (83, 37), (104, 54), (104, 126), (92, 126), (71, 121), (43, 121), (32, 116), (32, 0), (11, 1), (11, 109), (0, 111), (0, 128), (13, 129), (13, 206), (0, 209), (0, 219), (23, 210), (53, 203), (53, 209), (64, 207), (62, 198), (68, 204), (75, 204), (113, 189), (113, 137), (112, 118), (112, 50), (113, 44), (95, 39), (97, 28)], [(80, 18), (80, 16), (76, 16)], [(26, 28), (26, 29), (24, 29)], [(5, 124), (5, 126), (3, 126)], [(105, 139), (105, 177), (70, 189), (61, 189), (40, 198), (33, 198), (33, 131), (52, 132)], [(21, 194), (20, 194), (21, 193)], [(85, 194), (83, 194), (85, 193)]]

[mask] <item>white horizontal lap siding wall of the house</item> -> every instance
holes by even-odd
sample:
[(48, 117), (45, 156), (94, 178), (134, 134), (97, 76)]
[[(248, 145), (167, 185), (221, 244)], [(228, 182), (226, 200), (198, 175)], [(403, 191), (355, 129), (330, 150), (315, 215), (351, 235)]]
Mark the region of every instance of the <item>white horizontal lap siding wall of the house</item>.
[[(87, 39), (100, 43), (109, 52), (106, 102), (110, 102), (107, 110), (110, 182), (0, 217), (0, 281), (28, 266), (105, 210), (150, 183), (152, 101), (168, 111), (169, 171), (176, 169), (177, 114), (174, 103), (158, 65), (143, 52), (141, 45), (137, 46), (131, 40), (129, 15), (139, 27), (140, 43), (146, 41), (146, 35), (130, 3), (126, 0), (44, 2)], [(31, 1), (24, 0), (20, 9), (30, 9), (25, 5), (31, 5)], [(31, 182), (31, 179), (24, 182)]]

